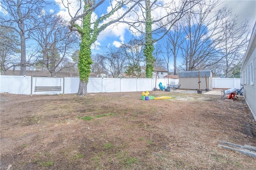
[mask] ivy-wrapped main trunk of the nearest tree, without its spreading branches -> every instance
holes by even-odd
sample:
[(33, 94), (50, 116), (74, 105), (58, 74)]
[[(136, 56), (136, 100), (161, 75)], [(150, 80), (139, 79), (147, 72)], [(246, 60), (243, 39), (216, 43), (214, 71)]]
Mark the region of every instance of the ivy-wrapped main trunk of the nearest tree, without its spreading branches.
[[(84, 11), (86, 11), (89, 7), (89, 5), (85, 5)], [(81, 36), (80, 51), (78, 55), (80, 84), (77, 95), (79, 96), (87, 95), (87, 84), (91, 72), (91, 15), (92, 12), (89, 12), (86, 16), (83, 17), (82, 28), (80, 28), (78, 25), (75, 25), (75, 27), (78, 28), (78, 32)]]

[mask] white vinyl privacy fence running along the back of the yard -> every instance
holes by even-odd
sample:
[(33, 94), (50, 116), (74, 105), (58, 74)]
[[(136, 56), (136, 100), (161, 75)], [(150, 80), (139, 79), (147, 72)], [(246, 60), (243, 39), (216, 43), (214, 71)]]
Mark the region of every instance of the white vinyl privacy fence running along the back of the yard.
[[(31, 77), (0, 75), (0, 93), (12, 94), (73, 94), (78, 92), (79, 77)], [(158, 84), (178, 85), (178, 79), (117, 79), (89, 77), (88, 93), (152, 91)], [(61, 86), (61, 91), (36, 91), (35, 86)], [(240, 79), (213, 78), (213, 88), (240, 88)]]

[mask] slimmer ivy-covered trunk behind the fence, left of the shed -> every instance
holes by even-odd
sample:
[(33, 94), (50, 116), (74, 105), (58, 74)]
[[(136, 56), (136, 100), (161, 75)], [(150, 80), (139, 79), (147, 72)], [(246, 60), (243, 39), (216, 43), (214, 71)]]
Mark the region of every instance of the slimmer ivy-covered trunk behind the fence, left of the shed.
[(146, 42), (145, 42), (145, 48), (144, 48), (144, 55), (146, 57), (146, 77), (152, 78), (155, 59), (152, 55), (154, 51), (154, 45), (152, 40), (152, 19), (151, 19), (150, 0), (145, 0), (145, 3), (146, 3), (146, 22), (145, 22)]

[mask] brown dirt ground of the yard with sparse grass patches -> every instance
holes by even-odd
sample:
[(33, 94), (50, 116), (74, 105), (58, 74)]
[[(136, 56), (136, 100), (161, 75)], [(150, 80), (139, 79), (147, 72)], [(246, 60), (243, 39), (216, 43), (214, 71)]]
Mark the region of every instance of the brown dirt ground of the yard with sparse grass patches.
[(256, 158), (218, 146), (256, 146), (243, 97), (152, 91), (172, 99), (143, 101), (141, 94), (1, 94), (0, 168), (255, 169)]

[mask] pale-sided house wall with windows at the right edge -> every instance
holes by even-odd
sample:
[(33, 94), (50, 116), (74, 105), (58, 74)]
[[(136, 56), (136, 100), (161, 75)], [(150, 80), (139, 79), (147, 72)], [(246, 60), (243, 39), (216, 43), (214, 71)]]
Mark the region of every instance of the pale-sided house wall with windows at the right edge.
[(256, 121), (256, 22), (240, 70), (243, 94)]

